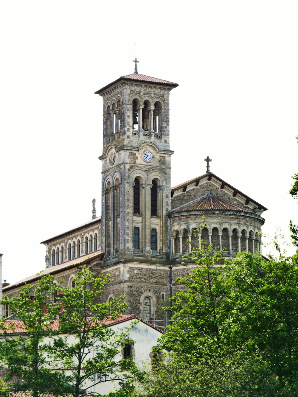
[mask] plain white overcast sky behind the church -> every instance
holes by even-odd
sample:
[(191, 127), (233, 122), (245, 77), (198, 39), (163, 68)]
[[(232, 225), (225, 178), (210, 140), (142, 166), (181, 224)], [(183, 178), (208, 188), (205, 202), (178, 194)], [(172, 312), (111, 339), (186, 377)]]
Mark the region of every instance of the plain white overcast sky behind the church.
[[(102, 98), (121, 75), (173, 81), (172, 186), (211, 172), (298, 223), (296, 1), (2, 1), (0, 252), (13, 283), (45, 268), (41, 241), (101, 208)], [(263, 237), (266, 242), (269, 237)], [(294, 252), (289, 247), (288, 252)], [(263, 254), (269, 246), (263, 247)]]

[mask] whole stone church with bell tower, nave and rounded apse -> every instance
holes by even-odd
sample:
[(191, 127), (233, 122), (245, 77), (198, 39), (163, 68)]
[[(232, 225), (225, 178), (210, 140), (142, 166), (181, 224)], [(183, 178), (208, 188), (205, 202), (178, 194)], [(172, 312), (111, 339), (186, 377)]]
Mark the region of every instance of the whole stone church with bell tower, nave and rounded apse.
[(43, 272), (6, 285), (3, 295), (48, 273), (72, 288), (85, 264), (98, 276), (110, 274), (104, 300), (124, 294), (127, 314), (161, 325), (163, 306), (180, 289), (176, 278), (195, 266), (182, 264), (182, 256), (200, 239), (230, 259), (261, 251), (267, 208), (213, 174), (209, 157), (203, 175), (171, 187), (169, 100), (177, 86), (135, 66), (95, 92), (103, 98), (101, 216), (93, 200), (91, 220), (42, 242)]

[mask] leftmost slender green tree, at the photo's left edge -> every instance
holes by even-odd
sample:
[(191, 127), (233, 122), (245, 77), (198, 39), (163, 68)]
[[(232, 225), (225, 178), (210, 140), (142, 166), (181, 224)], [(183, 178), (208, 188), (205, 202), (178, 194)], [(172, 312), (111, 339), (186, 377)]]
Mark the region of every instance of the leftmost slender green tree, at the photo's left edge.
[[(53, 276), (43, 276), (35, 286), (21, 287), (18, 297), (7, 297), (0, 304), (9, 304), (15, 321), (0, 320), (0, 356), (8, 367), (8, 378), (16, 375), (20, 382), (12, 382), (15, 390), (32, 390), (33, 397), (49, 390), (58, 395), (66, 383), (64, 374), (52, 372), (48, 362), (52, 348), (44, 343), (45, 337), (56, 335), (52, 327), (59, 305), (52, 297), (57, 284)], [(21, 327), (21, 332), (16, 327)]]

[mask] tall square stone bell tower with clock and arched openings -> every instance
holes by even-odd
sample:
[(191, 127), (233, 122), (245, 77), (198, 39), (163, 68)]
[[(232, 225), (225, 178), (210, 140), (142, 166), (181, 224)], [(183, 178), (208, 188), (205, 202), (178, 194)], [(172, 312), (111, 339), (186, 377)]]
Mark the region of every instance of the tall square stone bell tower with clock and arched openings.
[(168, 260), (169, 94), (178, 84), (135, 73), (103, 97), (101, 247), (104, 264)]

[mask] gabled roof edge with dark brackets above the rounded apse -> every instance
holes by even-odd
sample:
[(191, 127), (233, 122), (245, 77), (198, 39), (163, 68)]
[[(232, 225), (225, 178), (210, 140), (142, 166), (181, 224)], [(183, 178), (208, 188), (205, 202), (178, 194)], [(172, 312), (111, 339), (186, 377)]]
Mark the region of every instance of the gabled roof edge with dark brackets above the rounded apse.
[[(172, 187), (172, 197), (174, 196), (175, 192), (179, 191), (180, 189), (182, 189), (182, 191), (186, 191), (186, 188), (188, 186), (190, 186), (190, 185), (193, 185), (192, 187), (199, 186), (199, 184), (201, 184), (202, 182), (206, 182), (206, 181), (215, 182), (216, 185), (220, 189), (228, 190), (228, 193), (230, 193), (232, 195), (232, 197), (236, 197), (237, 195), (238, 195), (238, 197), (242, 197), (242, 200), (244, 201), (245, 205), (248, 205), (251, 202), (251, 204), (253, 206), (255, 206), (256, 208), (258, 208), (259, 210), (266, 211), (268, 209), (268, 208), (264, 207), (262, 204), (260, 204), (259, 202), (253, 200), (248, 195), (242, 193), (240, 190), (236, 189), (236, 187), (230, 185), (228, 182), (224, 181), (223, 179), (221, 179), (220, 177), (218, 177), (217, 175), (215, 175), (212, 172), (207, 172), (203, 175), (200, 175), (196, 178), (190, 179), (189, 181), (180, 183), (179, 185)], [(243, 209), (242, 209), (242, 211), (243, 211)]]

